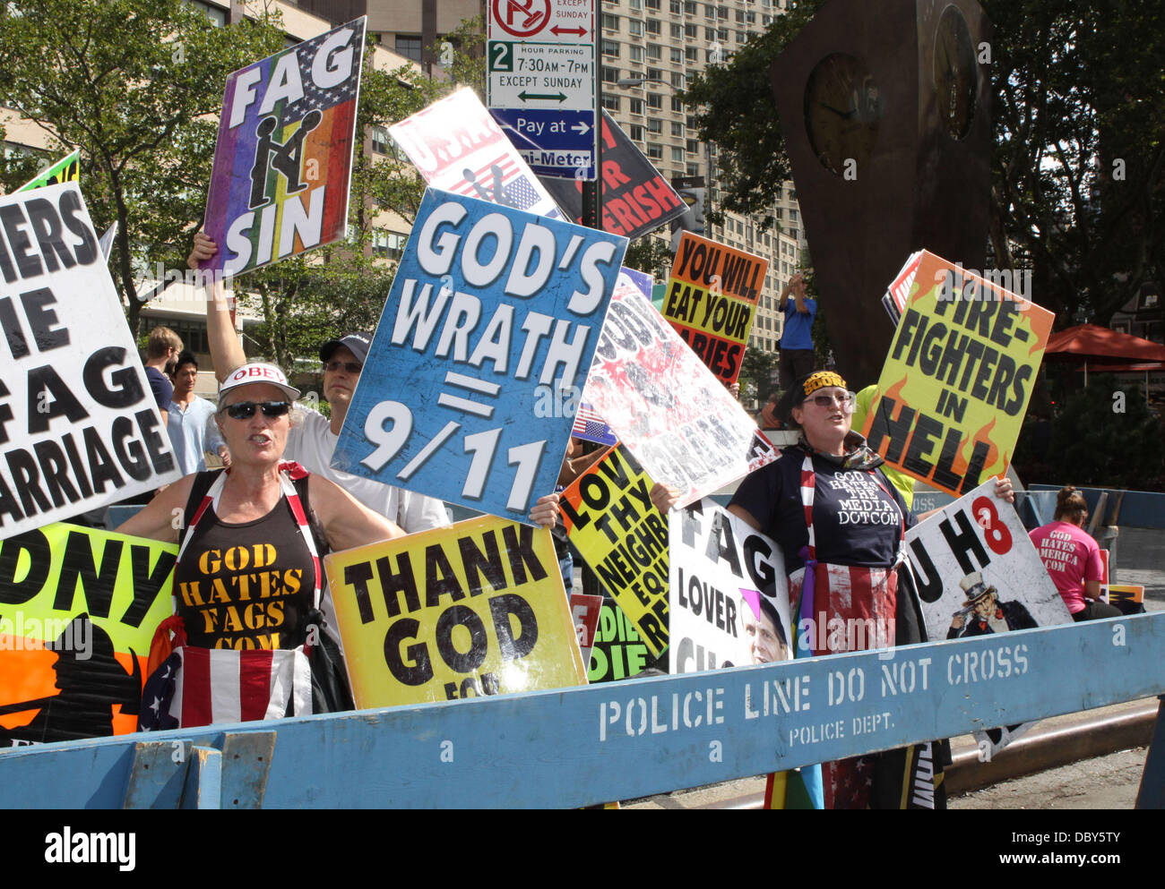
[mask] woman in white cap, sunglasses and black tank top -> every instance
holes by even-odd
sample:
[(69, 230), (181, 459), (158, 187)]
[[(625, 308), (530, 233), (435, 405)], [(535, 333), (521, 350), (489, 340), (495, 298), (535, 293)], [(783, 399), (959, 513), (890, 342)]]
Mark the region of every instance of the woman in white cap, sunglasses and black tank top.
[(271, 364), (230, 374), (216, 414), (233, 457), (230, 471), (179, 479), (118, 528), (181, 542), (174, 579), (179, 645), (310, 645), (311, 627), (322, 630), (327, 548), (404, 533), (329, 479), (282, 462), (298, 394)]

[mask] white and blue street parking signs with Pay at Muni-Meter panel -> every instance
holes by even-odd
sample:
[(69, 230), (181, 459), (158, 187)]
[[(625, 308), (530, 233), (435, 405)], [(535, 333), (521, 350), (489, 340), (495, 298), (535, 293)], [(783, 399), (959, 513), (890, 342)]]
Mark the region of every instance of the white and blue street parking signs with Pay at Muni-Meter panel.
[(487, 101), (539, 176), (595, 178), (595, 0), (490, 0)]

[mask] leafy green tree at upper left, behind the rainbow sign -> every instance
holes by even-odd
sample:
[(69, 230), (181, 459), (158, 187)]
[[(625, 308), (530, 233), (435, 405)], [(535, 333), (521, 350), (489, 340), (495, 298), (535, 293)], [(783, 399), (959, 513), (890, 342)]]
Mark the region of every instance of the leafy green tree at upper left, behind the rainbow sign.
[(93, 222), (118, 222), (112, 273), (135, 336), (141, 266), (154, 256), (184, 268), (202, 219), (227, 74), (283, 40), (267, 12), (217, 28), (183, 0), (0, 7), (0, 105), (44, 129), (58, 156), (82, 149)]

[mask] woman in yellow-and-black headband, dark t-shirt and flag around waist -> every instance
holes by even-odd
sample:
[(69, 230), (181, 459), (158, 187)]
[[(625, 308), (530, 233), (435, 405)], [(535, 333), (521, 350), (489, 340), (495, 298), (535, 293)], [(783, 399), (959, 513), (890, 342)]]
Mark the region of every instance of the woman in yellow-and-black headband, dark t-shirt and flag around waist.
[[(919, 641), (898, 632), (912, 626), (899, 605), (915, 603), (897, 595), (903, 538), (917, 519), (880, 471), (882, 457), (850, 429), (854, 393), (832, 371), (798, 381), (792, 392), (800, 439), (747, 476), (728, 511), (781, 547), (791, 613), (802, 616), (799, 647), (834, 654)], [(1008, 479), (995, 490), (1014, 500)], [(678, 492), (656, 484), (651, 499), (665, 512)], [(902, 769), (891, 754), (901, 751), (824, 763), (826, 808), (897, 804)]]

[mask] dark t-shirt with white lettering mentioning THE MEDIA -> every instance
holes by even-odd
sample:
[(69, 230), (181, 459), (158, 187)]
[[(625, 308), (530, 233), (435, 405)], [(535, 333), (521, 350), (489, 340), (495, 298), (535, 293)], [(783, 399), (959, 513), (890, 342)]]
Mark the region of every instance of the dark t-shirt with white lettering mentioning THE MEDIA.
[[(809, 543), (800, 472), (805, 451), (786, 448), (781, 457), (740, 483), (732, 504), (747, 510), (772, 538), (792, 574), (805, 562), (798, 555)], [(881, 469), (842, 469), (821, 455), (813, 456), (817, 476), (813, 495), (813, 534), (817, 559), (829, 564), (885, 568), (894, 562), (906, 527), (917, 519)]]

